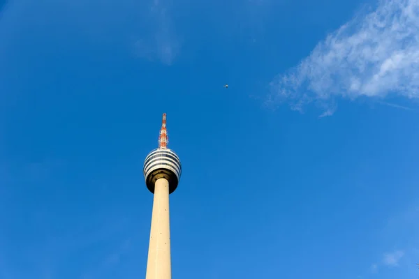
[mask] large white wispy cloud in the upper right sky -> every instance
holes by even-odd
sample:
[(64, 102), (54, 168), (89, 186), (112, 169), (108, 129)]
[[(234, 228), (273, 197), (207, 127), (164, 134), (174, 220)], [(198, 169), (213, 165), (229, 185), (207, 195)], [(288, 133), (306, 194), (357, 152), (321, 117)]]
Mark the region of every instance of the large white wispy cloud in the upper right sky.
[[(299, 65), (270, 83), (268, 104), (323, 109), (336, 97), (419, 97), (419, 1), (381, 1), (314, 47)], [(335, 111), (325, 108), (325, 115)]]

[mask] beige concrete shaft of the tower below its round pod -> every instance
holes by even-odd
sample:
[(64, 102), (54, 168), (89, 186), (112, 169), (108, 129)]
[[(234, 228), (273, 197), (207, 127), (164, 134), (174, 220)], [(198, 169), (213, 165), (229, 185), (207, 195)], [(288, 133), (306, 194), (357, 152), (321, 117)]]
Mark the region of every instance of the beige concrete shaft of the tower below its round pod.
[(146, 279), (171, 279), (169, 181), (157, 179), (154, 184), (152, 227)]

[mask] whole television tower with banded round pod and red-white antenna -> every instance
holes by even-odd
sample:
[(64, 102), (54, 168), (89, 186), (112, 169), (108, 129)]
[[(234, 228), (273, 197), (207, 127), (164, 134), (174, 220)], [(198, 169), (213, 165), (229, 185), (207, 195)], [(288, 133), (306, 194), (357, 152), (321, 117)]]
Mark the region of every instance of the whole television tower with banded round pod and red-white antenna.
[(147, 188), (154, 194), (146, 279), (171, 279), (169, 194), (179, 183), (182, 166), (176, 153), (168, 149), (166, 114), (161, 123), (159, 148), (144, 161)]

